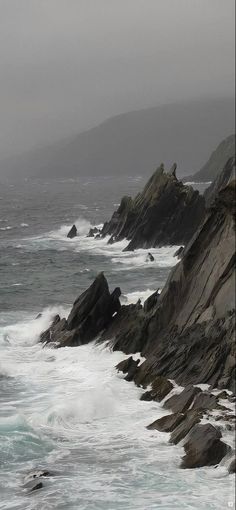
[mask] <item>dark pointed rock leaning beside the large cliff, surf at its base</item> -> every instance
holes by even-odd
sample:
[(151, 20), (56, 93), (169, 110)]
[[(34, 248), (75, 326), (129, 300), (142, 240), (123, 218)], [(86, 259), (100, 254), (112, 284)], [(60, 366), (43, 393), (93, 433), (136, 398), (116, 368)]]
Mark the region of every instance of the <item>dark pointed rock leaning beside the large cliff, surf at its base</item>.
[(57, 315), (50, 328), (41, 334), (41, 342), (57, 347), (82, 345), (96, 338), (112, 322), (120, 309), (121, 291), (110, 294), (106, 278), (100, 273), (93, 284), (74, 303), (67, 319)]

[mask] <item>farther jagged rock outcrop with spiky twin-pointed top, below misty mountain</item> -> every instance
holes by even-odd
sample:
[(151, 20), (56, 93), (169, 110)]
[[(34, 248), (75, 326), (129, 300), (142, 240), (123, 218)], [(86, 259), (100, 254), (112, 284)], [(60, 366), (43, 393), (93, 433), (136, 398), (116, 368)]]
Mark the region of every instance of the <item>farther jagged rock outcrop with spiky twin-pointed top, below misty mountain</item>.
[[(205, 214), (204, 198), (161, 165), (134, 199), (123, 197), (101, 236), (128, 239), (126, 250), (186, 244)], [(152, 259), (153, 260), (153, 259)]]

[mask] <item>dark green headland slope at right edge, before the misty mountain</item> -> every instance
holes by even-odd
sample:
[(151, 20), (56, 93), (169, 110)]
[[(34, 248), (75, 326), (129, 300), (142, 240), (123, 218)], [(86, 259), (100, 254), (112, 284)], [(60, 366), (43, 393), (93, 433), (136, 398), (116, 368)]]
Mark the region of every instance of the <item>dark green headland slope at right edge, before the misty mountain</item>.
[(211, 154), (205, 165), (194, 175), (184, 177), (185, 182), (214, 181), (230, 158), (235, 157), (235, 135), (225, 138)]

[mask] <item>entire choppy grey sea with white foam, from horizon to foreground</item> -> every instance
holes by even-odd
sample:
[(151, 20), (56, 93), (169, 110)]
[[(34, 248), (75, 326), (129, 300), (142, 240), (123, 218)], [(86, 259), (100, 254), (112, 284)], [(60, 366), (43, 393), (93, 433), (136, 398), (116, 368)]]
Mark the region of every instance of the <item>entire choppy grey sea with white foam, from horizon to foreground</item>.
[[(142, 390), (114, 366), (124, 358), (94, 345), (42, 349), (37, 338), (55, 311), (105, 271), (124, 302), (162, 287), (175, 248), (123, 253), (125, 243), (86, 238), (121, 195), (143, 182), (25, 181), (0, 189), (0, 508), (222, 509), (233, 501), (224, 466), (177, 469), (181, 446), (145, 426), (165, 411), (139, 401)], [(76, 222), (79, 237), (66, 233)], [(35, 316), (43, 310), (40, 319)], [(48, 469), (44, 489), (28, 494), (31, 469)]]

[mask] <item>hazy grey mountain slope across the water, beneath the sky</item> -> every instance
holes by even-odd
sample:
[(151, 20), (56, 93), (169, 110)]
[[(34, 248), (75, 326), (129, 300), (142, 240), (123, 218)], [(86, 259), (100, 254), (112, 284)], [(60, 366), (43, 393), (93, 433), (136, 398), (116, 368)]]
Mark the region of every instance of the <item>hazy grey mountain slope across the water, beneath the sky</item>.
[(76, 137), (2, 161), (1, 175), (145, 175), (163, 161), (198, 170), (234, 130), (233, 99), (198, 100), (129, 112)]

